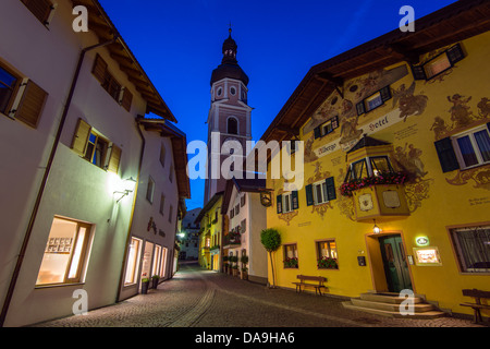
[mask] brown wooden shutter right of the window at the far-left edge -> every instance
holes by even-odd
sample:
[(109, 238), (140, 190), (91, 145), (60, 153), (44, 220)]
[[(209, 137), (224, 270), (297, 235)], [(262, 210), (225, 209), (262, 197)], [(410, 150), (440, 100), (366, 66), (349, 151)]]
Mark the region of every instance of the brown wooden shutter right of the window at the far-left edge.
[(47, 97), (48, 94), (29, 80), (15, 113), (15, 118), (33, 128), (37, 128)]

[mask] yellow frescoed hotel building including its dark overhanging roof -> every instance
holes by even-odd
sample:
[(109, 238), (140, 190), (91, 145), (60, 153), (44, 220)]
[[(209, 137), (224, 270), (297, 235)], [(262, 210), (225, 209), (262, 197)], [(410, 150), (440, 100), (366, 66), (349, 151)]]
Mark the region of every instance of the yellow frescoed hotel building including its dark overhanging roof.
[(303, 186), (268, 163), (275, 285), (323, 276), (356, 309), (411, 290), (436, 305), (420, 316), (490, 291), (489, 11), (457, 2), (311, 68), (261, 139), (304, 142)]

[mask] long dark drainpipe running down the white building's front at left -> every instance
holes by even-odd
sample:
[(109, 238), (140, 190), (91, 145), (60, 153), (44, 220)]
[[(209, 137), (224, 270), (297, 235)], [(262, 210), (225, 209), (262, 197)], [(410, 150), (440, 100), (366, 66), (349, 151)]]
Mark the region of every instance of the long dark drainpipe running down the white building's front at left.
[(36, 221), (37, 213), (39, 210), (40, 202), (42, 200), (42, 194), (45, 192), (46, 184), (48, 182), (48, 177), (49, 177), (49, 173), (51, 171), (52, 163), (54, 160), (54, 155), (57, 153), (58, 145), (60, 143), (61, 133), (63, 132), (64, 122), (66, 121), (66, 117), (68, 117), (68, 112), (69, 112), (69, 109), (70, 109), (70, 105), (72, 103), (72, 98), (73, 98), (73, 95), (75, 93), (76, 83), (78, 82), (78, 76), (79, 76), (79, 72), (82, 70), (82, 64), (84, 62), (85, 55), (88, 51), (91, 51), (94, 49), (97, 49), (97, 48), (100, 48), (100, 47), (113, 44), (113, 43), (115, 43), (115, 40), (118, 40), (118, 38), (119, 38), (119, 34), (115, 34), (114, 37), (111, 40), (86, 47), (86, 48), (82, 49), (82, 52), (79, 53), (78, 64), (76, 67), (75, 75), (74, 75), (73, 81), (72, 81), (72, 86), (70, 88), (70, 93), (69, 93), (69, 96), (66, 98), (66, 103), (65, 103), (65, 106), (64, 106), (64, 109), (63, 109), (63, 115), (61, 116), (61, 120), (60, 120), (60, 123), (58, 125), (58, 131), (57, 131), (57, 135), (56, 135), (54, 142), (53, 142), (53, 145), (51, 147), (51, 154), (49, 155), (48, 165), (46, 166), (45, 174), (42, 177), (41, 183), (39, 185), (39, 190), (37, 192), (36, 202), (34, 204), (34, 208), (33, 208), (33, 212), (30, 214), (29, 222), (28, 222), (25, 236), (24, 236), (24, 241), (23, 241), (22, 246), (21, 246), (21, 252), (19, 253), (17, 262), (15, 264), (15, 268), (14, 268), (14, 272), (13, 272), (13, 275), (12, 275), (12, 279), (10, 280), (9, 289), (7, 291), (5, 300), (3, 302), (2, 312), (0, 314), (0, 327), (3, 327), (3, 324), (4, 324), (5, 318), (7, 318), (7, 313), (9, 311), (9, 306), (10, 306), (10, 303), (12, 301), (13, 292), (15, 290), (15, 285), (17, 282), (19, 274), (21, 273), (21, 267), (22, 267), (22, 263), (24, 262), (25, 253), (26, 253), (26, 250), (27, 250), (27, 244), (29, 242), (30, 234), (33, 232), (34, 222)]

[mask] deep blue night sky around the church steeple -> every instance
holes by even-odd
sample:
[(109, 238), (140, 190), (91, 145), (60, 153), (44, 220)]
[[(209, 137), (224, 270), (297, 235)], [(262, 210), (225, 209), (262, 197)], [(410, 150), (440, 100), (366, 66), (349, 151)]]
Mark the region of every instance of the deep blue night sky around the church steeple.
[[(250, 79), (258, 141), (306, 75), (322, 61), (399, 27), (400, 8), (419, 19), (451, 0), (99, 0), (177, 119), (187, 142), (207, 140), (211, 71), (232, 23), (238, 64)], [(417, 29), (417, 27), (415, 27)], [(189, 158), (193, 155), (189, 155)], [(187, 209), (203, 207), (191, 181)]]

